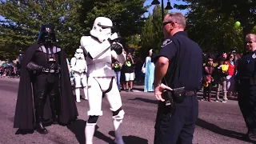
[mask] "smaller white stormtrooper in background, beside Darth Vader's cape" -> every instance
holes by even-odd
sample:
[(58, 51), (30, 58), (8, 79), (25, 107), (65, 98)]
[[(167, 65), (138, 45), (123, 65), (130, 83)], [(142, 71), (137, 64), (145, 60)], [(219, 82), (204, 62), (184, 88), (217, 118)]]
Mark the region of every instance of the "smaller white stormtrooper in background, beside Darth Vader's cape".
[(85, 99), (87, 100), (87, 65), (86, 59), (83, 54), (83, 50), (79, 47), (74, 54), (74, 58), (71, 58), (71, 70), (74, 70), (74, 83), (75, 83), (75, 95), (77, 102), (80, 101), (80, 88), (83, 88)]

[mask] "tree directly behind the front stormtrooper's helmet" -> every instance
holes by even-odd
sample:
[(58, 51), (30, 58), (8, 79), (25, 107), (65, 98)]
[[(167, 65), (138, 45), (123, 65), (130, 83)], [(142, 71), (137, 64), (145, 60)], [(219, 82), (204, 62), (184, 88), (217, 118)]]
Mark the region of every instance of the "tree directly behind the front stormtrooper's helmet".
[(84, 23), (86, 34), (89, 34), (94, 19), (99, 16), (110, 18), (114, 23), (114, 30), (120, 32), (123, 42), (134, 34), (142, 33), (142, 26), (146, 18), (142, 15), (148, 6), (143, 6), (145, 0), (83, 0), (81, 22)]

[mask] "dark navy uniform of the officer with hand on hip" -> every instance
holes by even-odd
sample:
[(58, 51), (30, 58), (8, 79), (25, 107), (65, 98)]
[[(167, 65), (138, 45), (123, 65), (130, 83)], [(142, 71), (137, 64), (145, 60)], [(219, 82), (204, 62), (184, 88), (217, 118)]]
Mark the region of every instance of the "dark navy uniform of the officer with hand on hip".
[[(184, 102), (175, 104), (174, 114), (170, 114), (165, 102), (159, 102), (154, 127), (154, 144), (192, 143), (194, 126), (198, 119), (196, 91), (202, 80), (202, 50), (196, 42), (187, 38), (186, 32), (181, 31), (163, 42), (156, 58), (161, 56), (170, 61), (165, 78), (174, 74), (168, 86), (171, 88), (185, 86), (188, 95)], [(174, 58), (178, 58), (175, 71), (170, 70), (174, 65)]]

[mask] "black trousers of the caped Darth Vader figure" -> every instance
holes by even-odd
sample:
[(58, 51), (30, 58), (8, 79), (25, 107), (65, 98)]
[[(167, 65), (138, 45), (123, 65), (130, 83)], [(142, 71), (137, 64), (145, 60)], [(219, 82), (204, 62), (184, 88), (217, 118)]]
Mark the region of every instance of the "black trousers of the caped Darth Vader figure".
[(34, 82), (34, 106), (37, 122), (43, 122), (44, 106), (49, 95), (50, 109), (53, 117), (56, 117), (60, 110), (60, 94), (58, 88), (58, 74), (40, 74)]

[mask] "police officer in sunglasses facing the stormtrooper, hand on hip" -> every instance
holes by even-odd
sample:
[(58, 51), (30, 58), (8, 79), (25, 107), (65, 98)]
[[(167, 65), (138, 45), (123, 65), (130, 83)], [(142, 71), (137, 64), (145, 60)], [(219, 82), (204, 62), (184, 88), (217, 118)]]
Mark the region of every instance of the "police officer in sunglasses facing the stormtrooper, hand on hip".
[[(163, 33), (166, 38), (154, 58), (154, 94), (160, 101), (155, 123), (154, 144), (192, 143), (195, 122), (198, 119), (196, 92), (202, 81), (202, 50), (184, 31), (186, 20), (180, 13), (166, 14)], [(185, 87), (182, 102), (172, 108), (162, 98), (164, 90), (174, 94)], [(202, 87), (201, 87), (202, 88)]]

